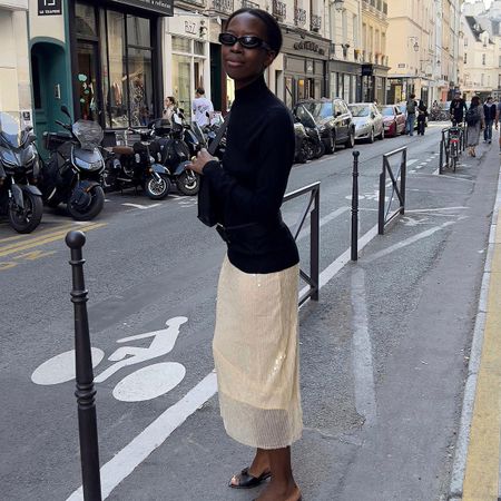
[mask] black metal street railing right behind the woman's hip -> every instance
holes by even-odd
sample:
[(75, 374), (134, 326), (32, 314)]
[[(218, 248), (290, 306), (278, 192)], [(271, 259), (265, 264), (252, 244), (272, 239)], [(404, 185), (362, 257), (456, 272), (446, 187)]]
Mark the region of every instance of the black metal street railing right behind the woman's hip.
[(301, 277), (308, 284), (308, 289), (299, 297), (299, 306), (307, 299), (318, 301), (320, 291), (320, 181), (296, 189), (284, 196), (284, 203), (310, 194), (310, 199), (293, 229), (294, 239), (299, 236), (310, 214), (310, 275), (299, 269)]

